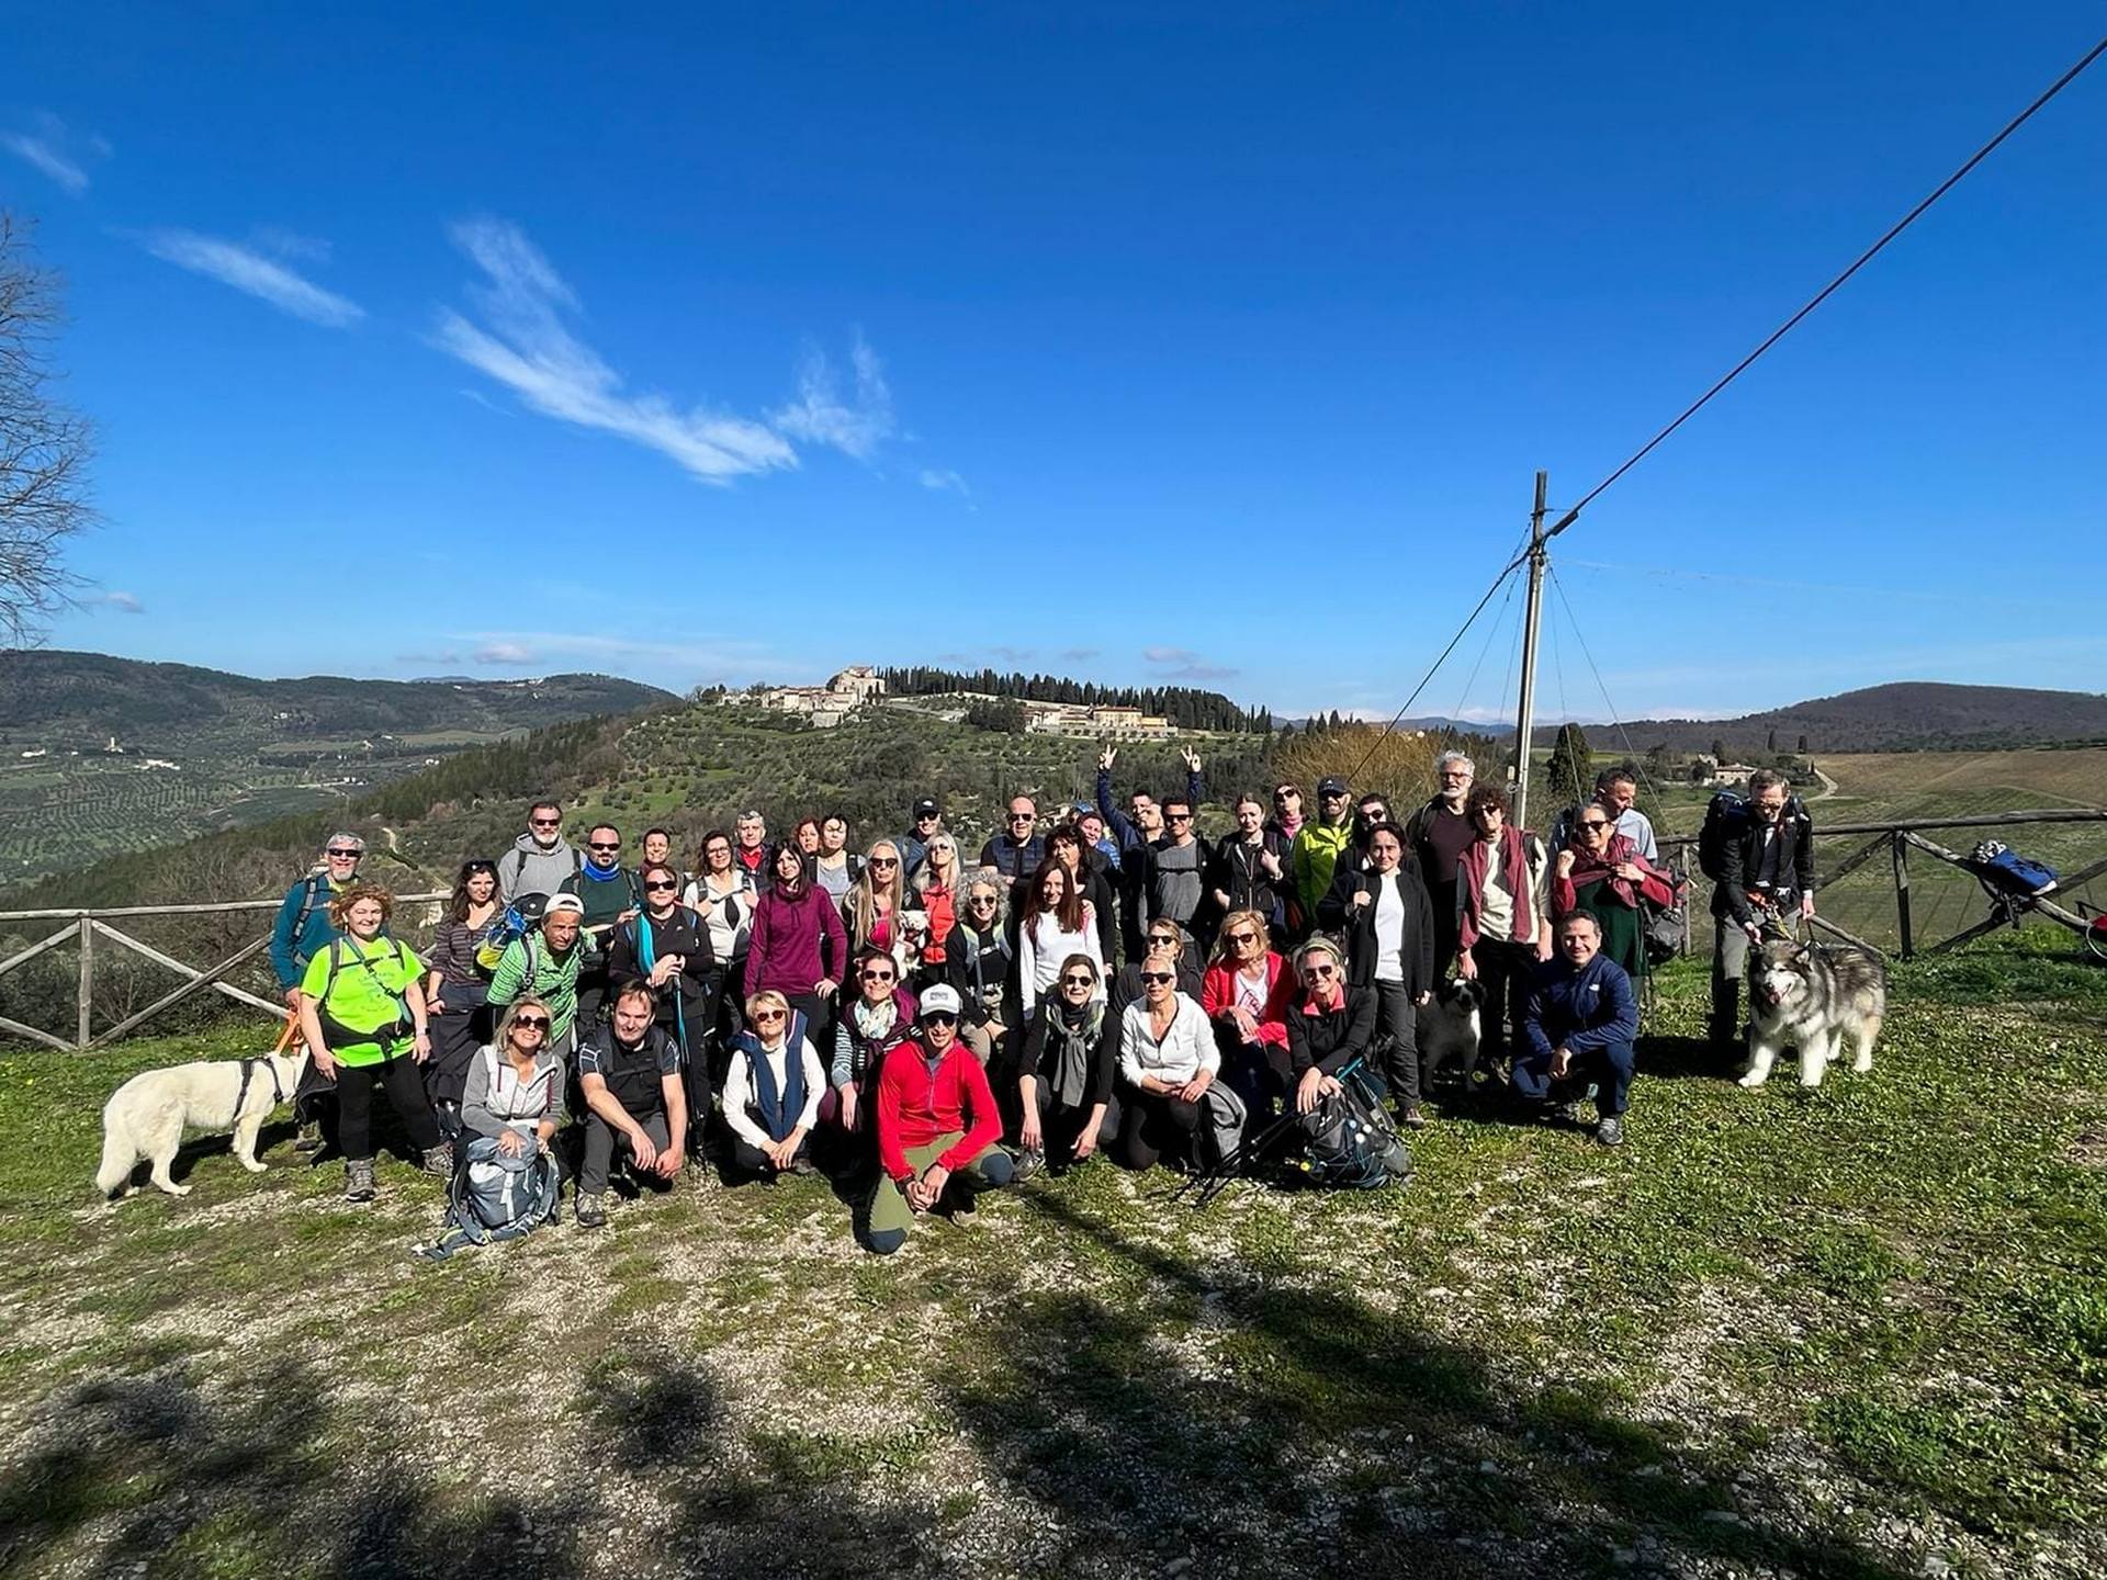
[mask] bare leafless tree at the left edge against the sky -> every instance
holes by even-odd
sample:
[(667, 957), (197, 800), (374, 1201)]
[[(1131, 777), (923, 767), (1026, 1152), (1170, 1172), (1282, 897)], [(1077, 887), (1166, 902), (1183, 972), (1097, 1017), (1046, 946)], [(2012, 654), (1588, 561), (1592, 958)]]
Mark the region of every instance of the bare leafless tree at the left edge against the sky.
[(51, 394), (51, 345), (65, 322), (59, 278), (29, 230), (0, 209), (0, 647), (32, 647), (78, 579), (65, 539), (95, 525), (86, 419)]

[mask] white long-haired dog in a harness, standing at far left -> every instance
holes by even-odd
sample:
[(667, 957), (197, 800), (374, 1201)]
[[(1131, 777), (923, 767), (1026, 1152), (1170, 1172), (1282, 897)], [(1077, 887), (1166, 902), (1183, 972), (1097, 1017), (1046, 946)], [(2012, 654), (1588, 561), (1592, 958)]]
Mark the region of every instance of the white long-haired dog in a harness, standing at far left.
[(131, 1180), (133, 1165), (147, 1159), (160, 1190), (188, 1197), (190, 1186), (169, 1178), (185, 1125), (232, 1125), (234, 1161), (251, 1173), (263, 1173), (257, 1163), (257, 1131), (278, 1104), (291, 1100), (306, 1064), (308, 1049), (293, 1047), (249, 1060), (200, 1060), (141, 1070), (103, 1104), (103, 1167), (95, 1171), (95, 1188), (105, 1197), (116, 1192)]

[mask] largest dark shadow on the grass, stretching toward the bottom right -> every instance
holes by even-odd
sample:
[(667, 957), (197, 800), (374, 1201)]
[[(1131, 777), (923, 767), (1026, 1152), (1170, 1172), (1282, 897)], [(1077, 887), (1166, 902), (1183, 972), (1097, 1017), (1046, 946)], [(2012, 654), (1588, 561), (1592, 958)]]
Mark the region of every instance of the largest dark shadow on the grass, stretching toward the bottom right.
[(1216, 1281), (1058, 1197), (1030, 1207), (1146, 1275), (1117, 1302), (1009, 1302), (948, 1388), (984, 1458), (1058, 1513), (1051, 1572), (1193, 1555), (1199, 1574), (1608, 1574), (1624, 1548), (1622, 1563), (1903, 1574), (1740, 1515), (1740, 1466), (1618, 1418), (1608, 1390), (1515, 1390), (1351, 1293)]

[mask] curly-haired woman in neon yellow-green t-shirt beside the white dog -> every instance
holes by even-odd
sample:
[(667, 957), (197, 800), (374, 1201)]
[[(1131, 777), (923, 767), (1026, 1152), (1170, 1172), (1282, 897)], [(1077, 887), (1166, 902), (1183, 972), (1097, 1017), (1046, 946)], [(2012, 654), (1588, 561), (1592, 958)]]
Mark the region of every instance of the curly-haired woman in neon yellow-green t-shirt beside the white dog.
[(299, 982), (299, 1032), (314, 1068), (337, 1087), (337, 1148), (343, 1199), (373, 1201), (373, 1089), (402, 1121), (428, 1173), (453, 1173), (453, 1144), (438, 1133), (417, 1066), (432, 1058), (426, 1026), (424, 963), (388, 937), (394, 895), (354, 883), (329, 902), (341, 933), (308, 961)]

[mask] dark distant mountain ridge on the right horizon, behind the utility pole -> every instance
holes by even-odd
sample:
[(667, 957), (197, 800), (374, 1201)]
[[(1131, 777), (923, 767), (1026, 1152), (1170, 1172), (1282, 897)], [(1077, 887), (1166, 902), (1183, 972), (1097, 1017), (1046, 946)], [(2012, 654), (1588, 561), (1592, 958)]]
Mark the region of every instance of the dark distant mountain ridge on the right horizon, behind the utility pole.
[[(1608, 750), (1610, 727), (1589, 729), (1601, 735), (1597, 746)], [(1544, 744), (1555, 733), (1538, 729), (1534, 737)], [(2071, 746), (2107, 742), (2107, 695), (1896, 680), (1740, 718), (1637, 718), (1624, 725), (1624, 735), (1641, 752), (1662, 742), (1675, 750), (1707, 752), (1721, 742), (1730, 754), (1791, 752), (1801, 735), (1810, 752)]]

